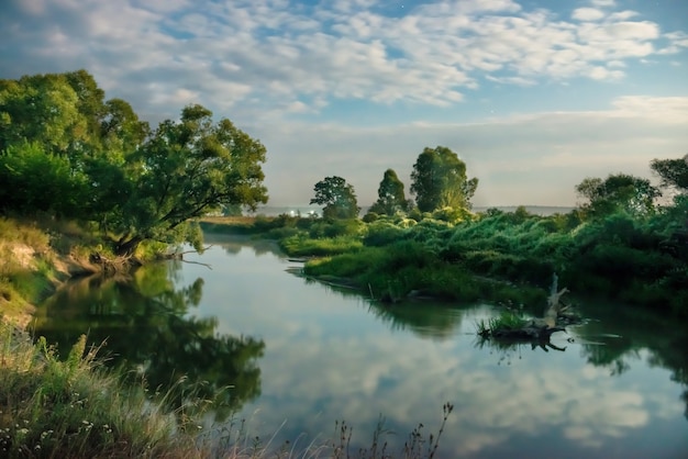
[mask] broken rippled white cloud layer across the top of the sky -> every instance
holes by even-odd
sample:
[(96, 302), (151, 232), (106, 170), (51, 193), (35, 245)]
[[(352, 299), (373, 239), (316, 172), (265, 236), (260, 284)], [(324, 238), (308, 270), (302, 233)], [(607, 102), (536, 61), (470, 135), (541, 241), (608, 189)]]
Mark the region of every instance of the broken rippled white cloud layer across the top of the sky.
[[(36, 59), (41, 71), (87, 68), (110, 94), (132, 96), (166, 116), (176, 115), (184, 98), (156, 91), (193, 91), (198, 102), (214, 105), (214, 90), (228, 81), (238, 90), (222, 92), (219, 107), (247, 113), (275, 105), (276, 114), (289, 115), (299, 104), (319, 101), (299, 109), (319, 111), (322, 101), (347, 99), (446, 107), (464, 100), (480, 78), (518, 86), (613, 81), (623, 74), (604, 70), (607, 60), (685, 46), (680, 33), (665, 34), (665, 47), (654, 45), (658, 25), (632, 21), (634, 12), (600, 10), (613, 2), (592, 7), (574, 10), (574, 22), (566, 22), (512, 0), (441, 0), (395, 15), (371, 1), (293, 8), (286, 1), (13, 0), (15, 14), (0, 25), (14, 56), (22, 56), (15, 77), (36, 71)], [(169, 82), (151, 86), (160, 78)]]

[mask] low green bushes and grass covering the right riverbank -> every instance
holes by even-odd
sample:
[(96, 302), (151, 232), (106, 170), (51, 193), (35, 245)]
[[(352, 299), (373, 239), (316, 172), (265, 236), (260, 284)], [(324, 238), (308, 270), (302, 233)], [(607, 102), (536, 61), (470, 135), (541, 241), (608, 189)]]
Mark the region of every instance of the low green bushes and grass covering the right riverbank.
[(685, 320), (687, 213), (681, 195), (642, 216), (624, 210), (592, 216), (585, 209), (543, 216), (519, 208), (469, 219), (440, 210), (363, 220), (207, 219), (201, 226), (278, 239), (290, 256), (306, 257), (306, 276), (354, 286), (382, 301), (490, 300), (540, 313), (556, 272), (579, 296), (610, 298)]

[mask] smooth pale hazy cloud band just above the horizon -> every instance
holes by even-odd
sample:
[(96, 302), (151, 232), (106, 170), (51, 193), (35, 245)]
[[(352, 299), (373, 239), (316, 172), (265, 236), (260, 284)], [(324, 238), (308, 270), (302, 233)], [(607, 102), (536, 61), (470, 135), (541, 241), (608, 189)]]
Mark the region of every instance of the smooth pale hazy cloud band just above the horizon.
[(619, 171), (652, 177), (652, 159), (683, 156), (686, 125), (688, 98), (626, 96), (599, 111), (379, 127), (292, 122), (264, 126), (259, 136), (268, 148), (266, 183), (280, 190), (276, 203), (306, 202), (315, 182), (335, 173), (368, 205), (387, 168), (397, 171), (408, 193), (418, 155), (425, 146), (444, 145), (480, 179), (476, 205), (574, 205), (575, 186), (586, 177)]

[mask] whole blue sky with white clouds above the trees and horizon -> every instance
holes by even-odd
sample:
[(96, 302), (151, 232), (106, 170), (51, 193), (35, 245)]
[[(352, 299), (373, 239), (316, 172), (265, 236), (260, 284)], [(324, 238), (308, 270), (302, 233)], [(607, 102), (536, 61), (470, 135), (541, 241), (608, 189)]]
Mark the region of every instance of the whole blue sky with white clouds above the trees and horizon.
[(270, 205), (331, 176), (369, 205), (389, 168), (409, 193), (424, 147), (478, 206), (575, 205), (688, 153), (685, 0), (0, 0), (0, 30), (2, 79), (86, 69), (153, 126), (230, 119)]

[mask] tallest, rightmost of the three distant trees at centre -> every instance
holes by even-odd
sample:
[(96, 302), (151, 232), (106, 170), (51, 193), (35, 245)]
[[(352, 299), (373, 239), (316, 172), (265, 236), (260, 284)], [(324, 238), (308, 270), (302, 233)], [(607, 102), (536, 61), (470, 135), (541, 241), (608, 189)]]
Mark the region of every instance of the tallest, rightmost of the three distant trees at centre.
[(426, 147), (413, 165), (411, 192), (421, 212), (470, 209), (477, 188), (478, 179), (467, 178), (466, 164), (447, 147)]

